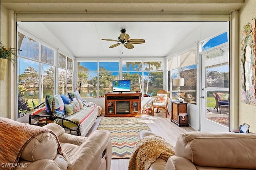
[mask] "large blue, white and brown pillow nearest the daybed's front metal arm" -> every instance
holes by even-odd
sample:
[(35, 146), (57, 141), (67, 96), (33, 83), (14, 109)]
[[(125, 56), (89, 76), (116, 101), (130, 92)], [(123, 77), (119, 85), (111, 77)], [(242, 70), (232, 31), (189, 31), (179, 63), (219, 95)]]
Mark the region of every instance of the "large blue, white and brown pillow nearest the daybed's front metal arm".
[(65, 114), (64, 103), (59, 94), (54, 96), (46, 95), (45, 102), (46, 108), (48, 107), (47, 110), (50, 110), (52, 114), (54, 113), (58, 116), (63, 116)]

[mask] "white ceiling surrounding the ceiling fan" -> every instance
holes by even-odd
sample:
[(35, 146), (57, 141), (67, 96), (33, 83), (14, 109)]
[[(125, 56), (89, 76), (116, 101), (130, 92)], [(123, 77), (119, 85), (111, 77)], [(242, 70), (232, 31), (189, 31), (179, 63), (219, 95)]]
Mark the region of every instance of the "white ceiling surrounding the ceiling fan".
[[(44, 41), (40, 34), (41, 24), (66, 47), (68, 54), (76, 58), (90, 57), (166, 57), (167, 54), (200, 28), (204, 22), (30, 22), (19, 23), (36, 37)], [(40, 26), (38, 31), (37, 27)], [(130, 39), (145, 39), (143, 44), (134, 44), (134, 49), (123, 45), (109, 48), (117, 43), (101, 39), (118, 39), (120, 29), (125, 28)], [(209, 31), (209, 30), (208, 30)], [(49, 36), (48, 36), (49, 37)], [(54, 42), (54, 41), (53, 41)], [(53, 44), (53, 43), (52, 43)]]

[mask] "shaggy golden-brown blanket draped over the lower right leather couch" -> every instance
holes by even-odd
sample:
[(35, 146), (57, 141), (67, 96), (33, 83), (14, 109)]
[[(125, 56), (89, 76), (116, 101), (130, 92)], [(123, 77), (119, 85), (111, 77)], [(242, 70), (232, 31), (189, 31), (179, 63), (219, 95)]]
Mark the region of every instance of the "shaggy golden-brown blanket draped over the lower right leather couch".
[(174, 155), (174, 147), (162, 137), (149, 135), (138, 141), (129, 160), (128, 170), (148, 170), (159, 158), (168, 160)]

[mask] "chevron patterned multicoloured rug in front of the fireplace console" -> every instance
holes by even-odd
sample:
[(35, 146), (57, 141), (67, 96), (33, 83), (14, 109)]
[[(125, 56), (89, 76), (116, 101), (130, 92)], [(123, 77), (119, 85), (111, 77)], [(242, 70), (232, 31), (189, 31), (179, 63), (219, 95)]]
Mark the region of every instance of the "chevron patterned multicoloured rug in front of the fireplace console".
[(130, 158), (140, 131), (150, 131), (141, 117), (102, 117), (98, 129), (110, 131), (112, 159)]

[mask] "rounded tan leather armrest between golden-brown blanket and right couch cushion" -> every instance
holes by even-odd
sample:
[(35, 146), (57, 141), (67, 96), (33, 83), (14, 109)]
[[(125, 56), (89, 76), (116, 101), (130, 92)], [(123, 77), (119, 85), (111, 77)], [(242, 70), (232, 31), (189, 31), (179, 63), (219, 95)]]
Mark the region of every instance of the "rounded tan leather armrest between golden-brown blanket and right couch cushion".
[(190, 160), (180, 157), (171, 156), (167, 162), (164, 170), (197, 170), (196, 166)]

